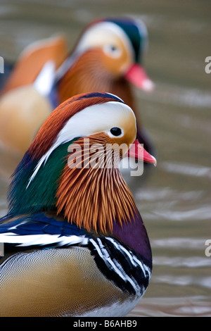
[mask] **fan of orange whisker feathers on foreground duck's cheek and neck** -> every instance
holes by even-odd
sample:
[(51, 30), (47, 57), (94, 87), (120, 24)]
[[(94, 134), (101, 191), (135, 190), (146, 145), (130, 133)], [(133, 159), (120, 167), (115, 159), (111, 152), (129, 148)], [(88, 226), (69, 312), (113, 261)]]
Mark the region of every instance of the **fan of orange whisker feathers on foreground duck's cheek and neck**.
[[(56, 192), (56, 207), (68, 222), (105, 234), (113, 232), (113, 222), (122, 226), (122, 223), (134, 220), (137, 209), (119, 169), (114, 166), (101, 168), (105, 154), (97, 154), (98, 165), (88, 168), (94, 157), (90, 148), (96, 141), (105, 146), (106, 135), (90, 136), (87, 143), (82, 138), (75, 141), (81, 146), (84, 158), (79, 159), (77, 167), (65, 165)], [(115, 162), (114, 151), (109, 155), (110, 163)]]

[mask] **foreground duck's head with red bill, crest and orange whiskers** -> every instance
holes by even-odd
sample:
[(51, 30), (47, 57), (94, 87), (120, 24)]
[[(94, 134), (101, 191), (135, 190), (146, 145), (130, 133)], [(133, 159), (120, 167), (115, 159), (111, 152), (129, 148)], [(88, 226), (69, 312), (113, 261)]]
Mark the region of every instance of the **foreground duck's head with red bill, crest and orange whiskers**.
[(117, 96), (68, 99), (49, 115), (15, 170), (10, 213), (56, 211), (79, 227), (112, 232), (114, 221), (122, 225), (138, 213), (120, 160), (129, 151), (155, 163), (153, 156), (137, 154), (135, 139), (134, 113)]

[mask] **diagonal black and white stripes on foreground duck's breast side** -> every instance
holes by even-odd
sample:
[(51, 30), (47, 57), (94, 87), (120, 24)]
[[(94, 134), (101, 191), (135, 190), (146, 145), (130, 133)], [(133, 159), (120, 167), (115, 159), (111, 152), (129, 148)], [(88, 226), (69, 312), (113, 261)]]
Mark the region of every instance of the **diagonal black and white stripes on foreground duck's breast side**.
[(151, 278), (151, 268), (127, 246), (112, 237), (89, 239), (89, 249), (101, 272), (122, 291), (142, 296)]

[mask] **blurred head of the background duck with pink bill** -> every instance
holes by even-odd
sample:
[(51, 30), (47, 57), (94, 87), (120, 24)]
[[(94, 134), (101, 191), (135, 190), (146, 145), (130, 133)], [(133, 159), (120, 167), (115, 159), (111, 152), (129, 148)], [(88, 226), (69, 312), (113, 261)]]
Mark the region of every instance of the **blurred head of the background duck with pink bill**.
[[(65, 90), (68, 91), (65, 82), (70, 82), (70, 73), (68, 74), (70, 68), (75, 72), (81, 69), (80, 88), (84, 86), (84, 92), (90, 92), (93, 88), (121, 96), (119, 91), (115, 91), (117, 89), (115, 85), (122, 79), (132, 82), (140, 89), (151, 91), (153, 82), (143, 68), (147, 44), (148, 34), (141, 20), (133, 18), (95, 20), (82, 32), (74, 51), (58, 69), (58, 79), (67, 73), (64, 82), (61, 82), (62, 101), (66, 97)], [(85, 77), (85, 73), (89, 74), (89, 78)], [(75, 82), (75, 89), (77, 84), (79, 83)], [(103, 84), (106, 85), (106, 89), (103, 89)]]

